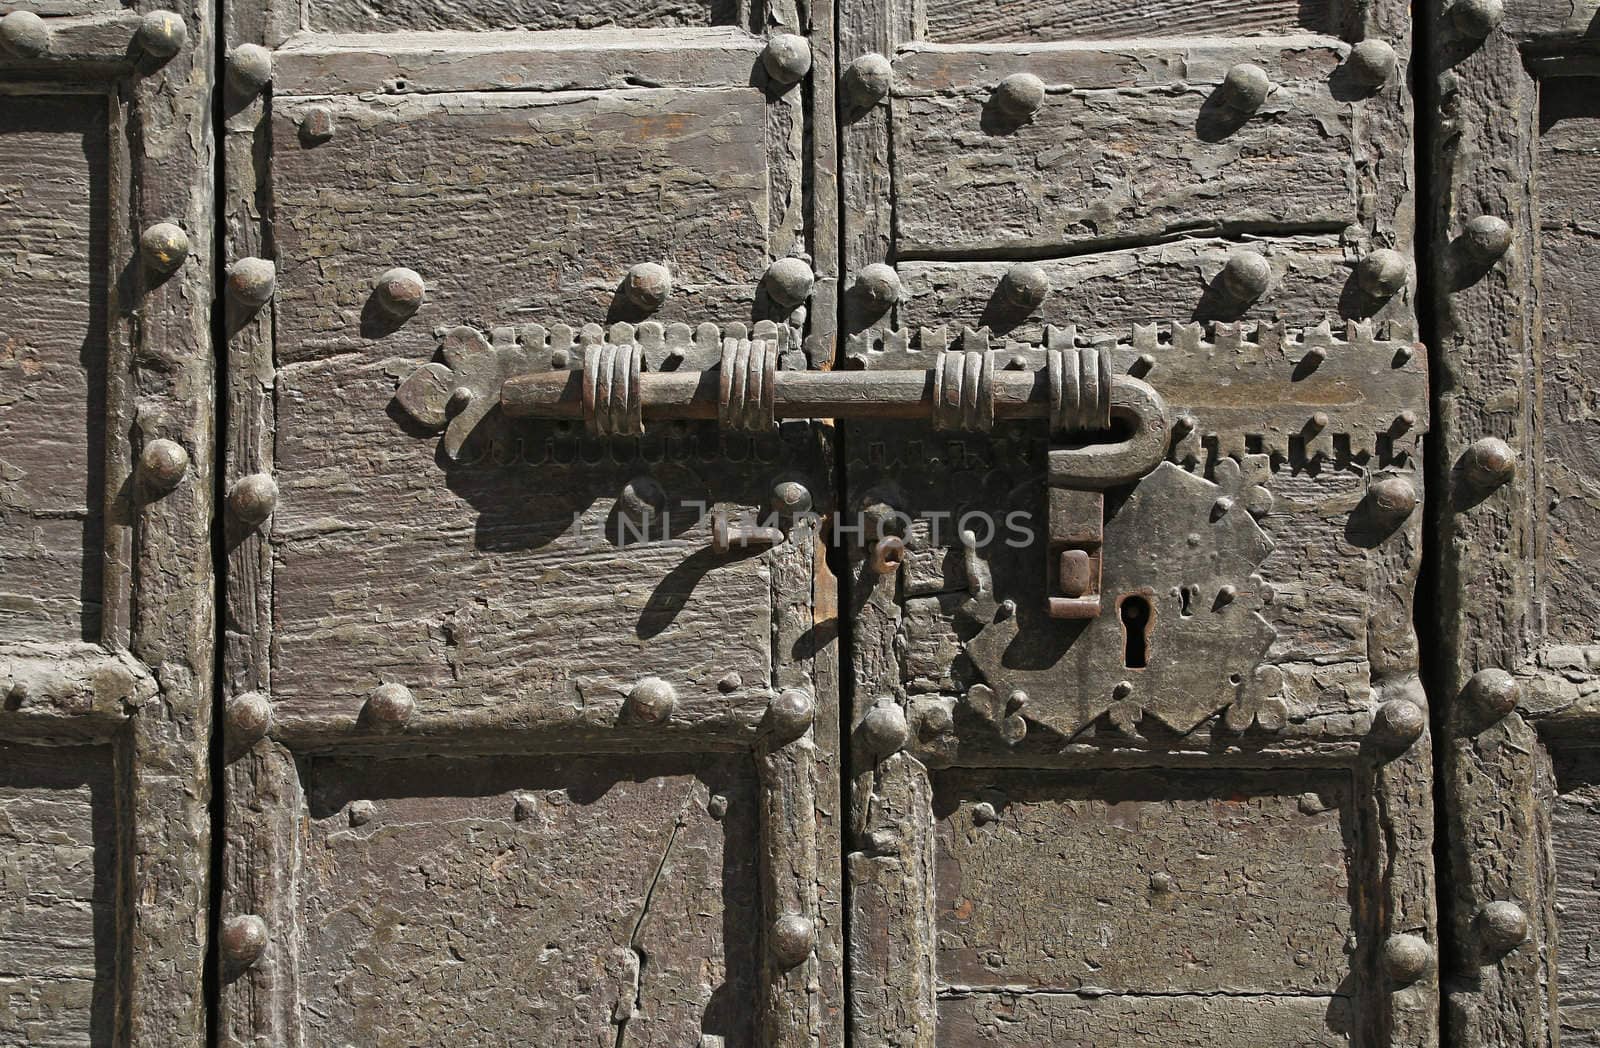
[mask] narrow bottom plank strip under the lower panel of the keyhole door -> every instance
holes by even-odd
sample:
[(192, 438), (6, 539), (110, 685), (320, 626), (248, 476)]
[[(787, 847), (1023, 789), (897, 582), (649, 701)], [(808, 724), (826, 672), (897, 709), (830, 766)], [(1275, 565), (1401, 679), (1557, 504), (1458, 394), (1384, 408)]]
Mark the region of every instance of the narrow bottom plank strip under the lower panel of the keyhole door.
[(1336, 1048), (1352, 1043), (1346, 997), (1078, 997), (963, 994), (939, 1002), (941, 1048)]

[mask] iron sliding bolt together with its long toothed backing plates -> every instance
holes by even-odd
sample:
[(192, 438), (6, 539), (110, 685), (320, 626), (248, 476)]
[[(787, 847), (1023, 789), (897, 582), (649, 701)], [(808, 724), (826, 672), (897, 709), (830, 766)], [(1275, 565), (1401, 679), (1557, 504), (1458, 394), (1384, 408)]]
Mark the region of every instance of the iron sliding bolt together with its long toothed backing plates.
[(1213, 518), (1230, 520), (1235, 502), (1259, 517), (1272, 501), (1251, 480), (1259, 461), (1376, 454), (1376, 482), (1410, 469), (1426, 429), (1414, 410), (1427, 403), (1426, 360), (1400, 325), (1379, 333), (1350, 322), (1339, 334), (1328, 323), (1152, 323), (1090, 334), (1048, 326), (1042, 342), (995, 347), (984, 328), (875, 328), (846, 341), (838, 371), (782, 366), (803, 360), (789, 336), (771, 322), (525, 325), (493, 338), (458, 326), (440, 331), (442, 360), (411, 373), (395, 402), (443, 430), (450, 459), (496, 408), (582, 419), (602, 437), (667, 419), (742, 432), (813, 418), (922, 418), (968, 432), (1048, 419), (1043, 611), (1058, 619), (1094, 619), (1107, 603), (1104, 490), (1168, 458), (1214, 462), (1216, 485), (1198, 482), (1218, 490)]

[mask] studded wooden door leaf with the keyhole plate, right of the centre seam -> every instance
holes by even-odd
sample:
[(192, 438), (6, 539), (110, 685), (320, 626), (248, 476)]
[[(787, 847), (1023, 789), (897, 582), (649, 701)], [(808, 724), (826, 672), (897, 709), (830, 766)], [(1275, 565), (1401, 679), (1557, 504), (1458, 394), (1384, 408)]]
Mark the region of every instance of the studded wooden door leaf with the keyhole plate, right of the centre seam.
[(838, 48), (856, 1043), (1437, 1043), (1405, 5)]

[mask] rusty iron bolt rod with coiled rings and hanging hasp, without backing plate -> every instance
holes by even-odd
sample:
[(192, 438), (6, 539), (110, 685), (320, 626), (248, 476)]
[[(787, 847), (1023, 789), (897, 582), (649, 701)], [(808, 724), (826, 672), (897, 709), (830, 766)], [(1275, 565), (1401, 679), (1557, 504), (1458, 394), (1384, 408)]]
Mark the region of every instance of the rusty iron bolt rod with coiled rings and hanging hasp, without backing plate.
[(947, 349), (928, 368), (784, 371), (776, 338), (726, 338), (712, 371), (645, 371), (637, 342), (584, 349), (582, 370), (510, 378), (510, 418), (582, 418), (595, 435), (637, 435), (646, 421), (717, 419), (741, 430), (779, 419), (928, 418), (936, 429), (986, 432), (998, 419), (1048, 419), (1048, 613), (1101, 613), (1101, 490), (1133, 483), (1166, 454), (1166, 405), (1149, 384), (1112, 374), (1104, 349), (1045, 352), (1042, 366), (1005, 370), (986, 349)]

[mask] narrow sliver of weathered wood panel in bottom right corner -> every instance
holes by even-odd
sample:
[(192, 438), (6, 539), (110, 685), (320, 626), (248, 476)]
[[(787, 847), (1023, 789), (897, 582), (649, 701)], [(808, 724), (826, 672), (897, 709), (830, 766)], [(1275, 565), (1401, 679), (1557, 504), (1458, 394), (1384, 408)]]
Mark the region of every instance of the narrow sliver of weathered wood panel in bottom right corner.
[(1555, 856), (1557, 1002), (1562, 1045), (1600, 1045), (1600, 754), (1557, 752), (1550, 850)]

